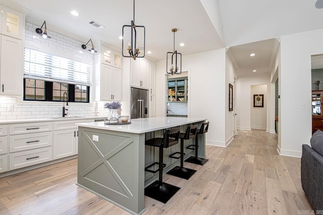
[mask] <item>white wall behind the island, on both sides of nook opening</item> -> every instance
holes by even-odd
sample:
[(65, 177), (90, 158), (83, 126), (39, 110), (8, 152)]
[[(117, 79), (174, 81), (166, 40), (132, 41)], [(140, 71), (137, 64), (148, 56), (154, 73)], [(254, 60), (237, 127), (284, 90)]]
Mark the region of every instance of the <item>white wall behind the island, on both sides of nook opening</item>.
[[(225, 146), (226, 50), (184, 55), (182, 60), (182, 70), (188, 71), (188, 116), (207, 118), (206, 144)], [(166, 60), (156, 62), (156, 80), (156, 116), (165, 116)]]

